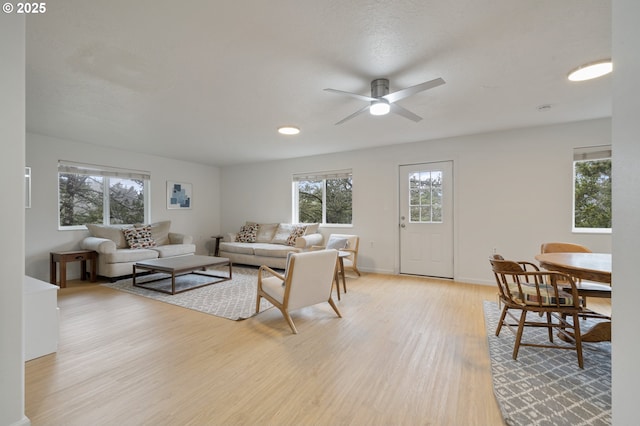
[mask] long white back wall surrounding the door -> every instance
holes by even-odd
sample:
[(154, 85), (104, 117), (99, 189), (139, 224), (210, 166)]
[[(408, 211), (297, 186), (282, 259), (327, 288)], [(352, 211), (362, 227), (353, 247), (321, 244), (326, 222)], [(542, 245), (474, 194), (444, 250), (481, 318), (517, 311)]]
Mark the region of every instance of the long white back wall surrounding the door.
[(611, 235), (573, 234), (573, 148), (611, 143), (611, 120), (599, 119), (264, 162), (222, 169), (222, 230), (245, 220), (291, 220), (291, 175), (351, 168), (358, 265), (398, 271), (398, 167), (454, 161), (455, 278), (493, 284), (487, 258), (496, 248), (533, 259), (545, 241), (570, 241), (610, 252)]

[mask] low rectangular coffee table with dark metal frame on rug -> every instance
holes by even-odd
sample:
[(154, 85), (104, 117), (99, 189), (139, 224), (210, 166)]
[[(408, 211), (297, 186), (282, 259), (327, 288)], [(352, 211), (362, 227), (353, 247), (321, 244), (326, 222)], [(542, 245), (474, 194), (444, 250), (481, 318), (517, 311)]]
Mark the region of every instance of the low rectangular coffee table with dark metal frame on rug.
[[(229, 276), (215, 275), (211, 273), (205, 274), (202, 272), (198, 272), (198, 271), (205, 271), (209, 266), (228, 266)], [(143, 271), (149, 271), (149, 272), (164, 272), (165, 274), (170, 274), (171, 275), (171, 291), (149, 285), (150, 283), (164, 280), (167, 277), (145, 281), (144, 283), (136, 283), (136, 274), (139, 269)], [(182, 274), (203, 275), (203, 276), (211, 277), (214, 280), (204, 284), (190, 286), (189, 288), (186, 288), (184, 290), (176, 291), (176, 275), (182, 275)], [(222, 281), (228, 281), (231, 278), (232, 278), (231, 261), (226, 257), (198, 256), (198, 255), (176, 256), (176, 257), (144, 260), (141, 262), (137, 262), (133, 265), (133, 285), (135, 287), (146, 288), (147, 290), (154, 290), (154, 291), (159, 291), (161, 293), (167, 293), (167, 294), (182, 293), (185, 291), (219, 283)]]

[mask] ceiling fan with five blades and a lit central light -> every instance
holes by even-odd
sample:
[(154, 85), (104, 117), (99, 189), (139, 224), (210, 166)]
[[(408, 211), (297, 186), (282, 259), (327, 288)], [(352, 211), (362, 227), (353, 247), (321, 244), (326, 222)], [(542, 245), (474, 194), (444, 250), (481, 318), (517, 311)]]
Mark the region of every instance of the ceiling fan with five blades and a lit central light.
[(359, 109), (348, 117), (338, 121), (336, 125), (342, 124), (347, 120), (351, 120), (353, 117), (362, 114), (366, 110), (369, 110), (371, 115), (385, 115), (390, 111), (412, 121), (420, 121), (422, 117), (417, 116), (406, 108), (396, 104), (400, 99), (407, 98), (411, 95), (415, 95), (418, 92), (422, 92), (427, 89), (433, 89), (444, 84), (445, 81), (441, 78), (425, 81), (424, 83), (416, 84), (415, 86), (407, 87), (406, 89), (398, 90), (393, 93), (389, 93), (389, 80), (386, 78), (377, 78), (371, 82), (371, 96), (358, 95), (357, 93), (344, 92), (336, 89), (324, 89), (327, 92), (338, 93), (341, 95), (351, 96), (352, 98), (360, 99), (361, 101), (367, 101), (370, 104)]

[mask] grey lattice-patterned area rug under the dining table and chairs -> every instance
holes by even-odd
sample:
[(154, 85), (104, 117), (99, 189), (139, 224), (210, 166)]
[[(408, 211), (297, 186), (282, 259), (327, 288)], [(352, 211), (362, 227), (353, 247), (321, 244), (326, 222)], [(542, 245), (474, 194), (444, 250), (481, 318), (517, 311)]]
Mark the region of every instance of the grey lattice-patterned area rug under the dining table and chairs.
[[(610, 342), (583, 343), (584, 369), (572, 350), (520, 347), (514, 361), (513, 333), (495, 335), (498, 305), (485, 301), (484, 313), (493, 388), (507, 425), (611, 424)], [(580, 323), (583, 330), (592, 324)], [(547, 331), (526, 328), (525, 339), (548, 342)]]

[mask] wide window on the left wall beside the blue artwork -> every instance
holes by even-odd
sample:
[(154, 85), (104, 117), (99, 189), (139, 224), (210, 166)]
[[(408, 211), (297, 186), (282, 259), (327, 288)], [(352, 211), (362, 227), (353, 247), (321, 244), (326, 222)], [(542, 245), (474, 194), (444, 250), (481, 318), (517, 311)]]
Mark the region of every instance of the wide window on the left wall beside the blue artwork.
[(59, 161), (59, 228), (148, 222), (149, 181), (147, 172)]

